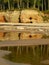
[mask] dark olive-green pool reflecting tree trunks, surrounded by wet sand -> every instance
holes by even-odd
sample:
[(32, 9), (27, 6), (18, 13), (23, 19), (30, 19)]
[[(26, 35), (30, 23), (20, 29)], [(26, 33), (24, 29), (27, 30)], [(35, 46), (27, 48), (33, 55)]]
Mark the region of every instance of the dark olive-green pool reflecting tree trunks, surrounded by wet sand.
[[(4, 58), (16, 63), (28, 63), (31, 65), (47, 65), (41, 61), (49, 59), (49, 46), (20, 46), (20, 47), (2, 47), (2, 50), (11, 51)], [(49, 65), (49, 64), (48, 64)]]

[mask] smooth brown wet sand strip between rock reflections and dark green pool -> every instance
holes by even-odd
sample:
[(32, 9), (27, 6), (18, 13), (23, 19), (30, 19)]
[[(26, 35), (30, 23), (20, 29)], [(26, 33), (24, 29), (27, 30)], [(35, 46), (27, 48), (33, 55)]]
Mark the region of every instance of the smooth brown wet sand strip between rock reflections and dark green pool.
[(49, 39), (28, 39), (0, 41), (0, 47), (6, 46), (32, 46), (32, 45), (49, 45)]

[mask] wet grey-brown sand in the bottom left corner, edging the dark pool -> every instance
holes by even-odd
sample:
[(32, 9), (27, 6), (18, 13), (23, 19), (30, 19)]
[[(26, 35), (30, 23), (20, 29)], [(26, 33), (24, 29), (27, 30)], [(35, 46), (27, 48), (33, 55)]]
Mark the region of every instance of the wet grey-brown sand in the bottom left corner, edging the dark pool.
[(5, 56), (9, 53), (11, 53), (11, 52), (0, 50), (0, 65), (30, 65), (30, 64), (10, 62), (9, 60), (6, 60), (6, 59), (2, 58), (3, 56)]

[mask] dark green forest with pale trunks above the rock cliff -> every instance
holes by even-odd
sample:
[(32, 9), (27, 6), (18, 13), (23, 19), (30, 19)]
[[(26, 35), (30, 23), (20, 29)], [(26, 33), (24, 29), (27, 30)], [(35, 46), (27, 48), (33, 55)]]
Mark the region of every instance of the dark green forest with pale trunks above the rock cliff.
[(22, 6), (22, 9), (29, 7), (29, 8), (37, 8), (39, 10), (42, 9), (45, 10), (44, 9), (45, 7), (47, 10), (47, 5), (49, 6), (48, 0), (0, 0), (0, 6), (1, 6), (0, 8), (2, 10), (6, 9), (12, 10), (14, 8), (19, 8), (20, 6)]

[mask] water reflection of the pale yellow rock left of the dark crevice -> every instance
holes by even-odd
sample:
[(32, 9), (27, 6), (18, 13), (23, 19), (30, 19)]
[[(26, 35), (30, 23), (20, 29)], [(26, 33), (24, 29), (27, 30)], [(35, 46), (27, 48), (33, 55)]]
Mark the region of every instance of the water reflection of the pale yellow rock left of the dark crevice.
[(5, 40), (19, 40), (19, 34), (16, 32), (8, 32), (5, 34)]

